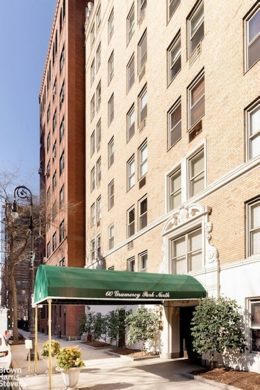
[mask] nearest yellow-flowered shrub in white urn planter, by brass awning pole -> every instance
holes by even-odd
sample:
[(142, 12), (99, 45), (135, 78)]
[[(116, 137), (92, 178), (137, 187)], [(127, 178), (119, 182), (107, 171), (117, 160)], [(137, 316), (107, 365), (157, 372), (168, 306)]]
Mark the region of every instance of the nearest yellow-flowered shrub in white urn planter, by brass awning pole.
[(61, 373), (65, 389), (77, 389), (80, 372), (85, 364), (81, 359), (81, 350), (78, 347), (61, 348), (57, 355), (56, 370)]

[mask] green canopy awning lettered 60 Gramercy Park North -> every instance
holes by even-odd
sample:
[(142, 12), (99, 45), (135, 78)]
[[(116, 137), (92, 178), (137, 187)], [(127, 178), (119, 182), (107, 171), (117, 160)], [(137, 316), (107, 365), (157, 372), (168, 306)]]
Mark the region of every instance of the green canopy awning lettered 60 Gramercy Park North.
[(41, 265), (35, 276), (34, 304), (139, 304), (206, 296), (189, 275), (109, 271)]

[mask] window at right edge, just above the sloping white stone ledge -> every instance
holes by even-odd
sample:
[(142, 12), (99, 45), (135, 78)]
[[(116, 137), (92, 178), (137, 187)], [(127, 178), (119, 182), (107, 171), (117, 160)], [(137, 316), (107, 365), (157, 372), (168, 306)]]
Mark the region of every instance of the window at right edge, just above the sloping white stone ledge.
[(248, 159), (260, 153), (260, 100), (247, 111)]

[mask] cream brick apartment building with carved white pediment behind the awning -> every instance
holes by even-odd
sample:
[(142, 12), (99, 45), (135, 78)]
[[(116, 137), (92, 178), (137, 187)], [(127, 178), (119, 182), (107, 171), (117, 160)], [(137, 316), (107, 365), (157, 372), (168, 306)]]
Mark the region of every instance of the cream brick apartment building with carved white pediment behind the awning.
[[(259, 0), (95, 1), (85, 35), (86, 267), (236, 299), (260, 372)], [(195, 304), (164, 303), (164, 357)]]

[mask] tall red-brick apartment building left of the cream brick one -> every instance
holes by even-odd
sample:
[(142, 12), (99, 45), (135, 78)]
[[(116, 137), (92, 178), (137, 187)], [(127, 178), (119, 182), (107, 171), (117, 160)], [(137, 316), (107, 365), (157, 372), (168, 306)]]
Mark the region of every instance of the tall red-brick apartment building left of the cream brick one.
[[(40, 182), (49, 220), (44, 263), (85, 264), (85, 0), (57, 0), (40, 90)], [(52, 332), (78, 335), (84, 307), (54, 306)], [(47, 308), (40, 331), (47, 331)]]

